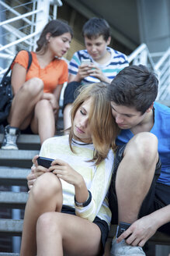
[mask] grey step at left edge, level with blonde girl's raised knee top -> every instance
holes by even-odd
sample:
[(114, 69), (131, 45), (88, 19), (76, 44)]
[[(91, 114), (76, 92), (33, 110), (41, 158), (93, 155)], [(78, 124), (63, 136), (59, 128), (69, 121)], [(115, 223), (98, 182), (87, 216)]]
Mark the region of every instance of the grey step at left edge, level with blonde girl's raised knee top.
[(26, 186), (30, 169), (0, 166), (0, 185)]

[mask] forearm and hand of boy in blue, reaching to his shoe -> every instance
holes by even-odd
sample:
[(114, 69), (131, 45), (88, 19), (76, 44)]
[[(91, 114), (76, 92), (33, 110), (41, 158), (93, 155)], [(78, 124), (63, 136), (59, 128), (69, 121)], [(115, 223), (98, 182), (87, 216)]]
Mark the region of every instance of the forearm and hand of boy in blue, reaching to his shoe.
[(127, 244), (132, 244), (133, 246), (141, 246), (149, 240), (151, 236), (158, 230), (162, 225), (170, 222), (170, 204), (161, 208), (150, 215), (146, 215), (141, 219), (137, 219), (130, 227), (127, 229), (119, 238), (117, 242), (126, 239), (127, 236), (130, 237), (126, 240)]

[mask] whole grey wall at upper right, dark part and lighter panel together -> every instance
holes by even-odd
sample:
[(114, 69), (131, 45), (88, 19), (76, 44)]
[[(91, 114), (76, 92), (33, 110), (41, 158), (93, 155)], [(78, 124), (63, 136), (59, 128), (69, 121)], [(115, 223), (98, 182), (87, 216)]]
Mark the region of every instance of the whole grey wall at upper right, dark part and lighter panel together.
[(170, 0), (62, 0), (87, 18), (101, 16), (112, 35), (131, 51), (141, 43), (150, 52), (170, 46)]

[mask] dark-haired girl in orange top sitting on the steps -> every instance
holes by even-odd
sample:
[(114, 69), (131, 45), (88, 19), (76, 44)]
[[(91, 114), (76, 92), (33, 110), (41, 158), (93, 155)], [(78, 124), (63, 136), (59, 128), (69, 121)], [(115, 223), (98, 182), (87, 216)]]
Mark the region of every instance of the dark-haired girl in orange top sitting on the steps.
[(29, 56), (21, 51), (12, 66), (12, 107), (5, 126), (2, 149), (18, 149), (20, 130), (30, 126), (43, 143), (55, 133), (55, 119), (64, 82), (68, 81), (68, 64), (61, 57), (70, 48), (71, 27), (60, 20), (51, 20), (36, 42), (36, 52), (26, 73)]

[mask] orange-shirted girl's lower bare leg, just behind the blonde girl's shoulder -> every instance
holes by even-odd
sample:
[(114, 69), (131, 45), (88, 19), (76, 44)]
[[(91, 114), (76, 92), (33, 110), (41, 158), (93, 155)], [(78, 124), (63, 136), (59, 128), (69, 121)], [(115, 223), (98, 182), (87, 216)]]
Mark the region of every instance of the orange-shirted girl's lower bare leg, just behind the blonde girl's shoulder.
[(36, 104), (34, 117), (31, 122), (33, 133), (40, 135), (40, 143), (55, 134), (55, 117), (50, 101), (44, 99)]

